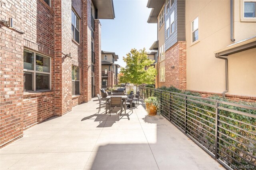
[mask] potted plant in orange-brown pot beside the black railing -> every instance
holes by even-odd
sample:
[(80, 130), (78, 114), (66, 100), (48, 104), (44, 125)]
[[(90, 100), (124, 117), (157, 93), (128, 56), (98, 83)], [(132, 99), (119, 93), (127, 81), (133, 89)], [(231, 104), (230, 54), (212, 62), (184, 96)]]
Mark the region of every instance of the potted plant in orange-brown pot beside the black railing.
[(148, 99), (145, 100), (145, 103), (148, 115), (156, 115), (158, 108), (160, 107), (159, 99), (157, 97), (148, 97)]

